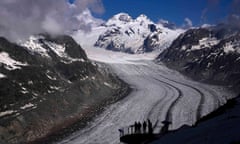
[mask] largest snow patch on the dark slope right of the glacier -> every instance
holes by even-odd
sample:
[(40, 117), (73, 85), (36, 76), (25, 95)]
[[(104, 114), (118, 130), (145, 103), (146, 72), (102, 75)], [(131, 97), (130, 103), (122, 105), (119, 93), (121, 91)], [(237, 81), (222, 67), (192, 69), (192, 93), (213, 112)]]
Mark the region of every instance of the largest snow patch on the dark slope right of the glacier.
[(217, 45), (218, 43), (219, 43), (219, 40), (217, 40), (215, 37), (205, 37), (199, 40), (198, 45), (192, 45), (191, 50), (211, 48), (212, 46)]

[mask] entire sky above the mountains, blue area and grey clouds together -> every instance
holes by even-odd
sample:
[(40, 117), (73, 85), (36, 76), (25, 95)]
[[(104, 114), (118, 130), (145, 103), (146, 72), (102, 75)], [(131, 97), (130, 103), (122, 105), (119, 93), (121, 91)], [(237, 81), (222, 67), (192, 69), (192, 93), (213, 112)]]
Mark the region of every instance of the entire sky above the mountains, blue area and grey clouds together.
[(0, 36), (18, 41), (45, 32), (90, 31), (91, 26), (78, 19), (85, 9), (103, 20), (125, 12), (133, 18), (145, 14), (154, 22), (164, 19), (177, 26), (225, 19), (240, 28), (240, 0), (0, 0)]

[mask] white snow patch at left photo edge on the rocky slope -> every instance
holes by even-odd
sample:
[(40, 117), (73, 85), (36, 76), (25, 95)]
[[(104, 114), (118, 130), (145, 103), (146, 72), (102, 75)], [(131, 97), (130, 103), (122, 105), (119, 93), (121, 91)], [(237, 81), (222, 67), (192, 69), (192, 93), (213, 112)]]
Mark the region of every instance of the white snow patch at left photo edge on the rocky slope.
[(21, 69), (20, 66), (27, 66), (27, 63), (22, 63), (12, 59), (8, 53), (0, 52), (0, 63), (5, 64), (8, 70)]

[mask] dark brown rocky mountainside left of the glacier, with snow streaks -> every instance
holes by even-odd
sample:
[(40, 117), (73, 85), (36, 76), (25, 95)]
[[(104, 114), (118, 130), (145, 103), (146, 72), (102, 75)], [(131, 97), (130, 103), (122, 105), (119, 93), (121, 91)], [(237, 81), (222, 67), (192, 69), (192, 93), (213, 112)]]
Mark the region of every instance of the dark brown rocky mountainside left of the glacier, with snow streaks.
[[(0, 143), (27, 143), (83, 124), (128, 87), (69, 36), (0, 38)], [(85, 121), (84, 121), (85, 120)]]

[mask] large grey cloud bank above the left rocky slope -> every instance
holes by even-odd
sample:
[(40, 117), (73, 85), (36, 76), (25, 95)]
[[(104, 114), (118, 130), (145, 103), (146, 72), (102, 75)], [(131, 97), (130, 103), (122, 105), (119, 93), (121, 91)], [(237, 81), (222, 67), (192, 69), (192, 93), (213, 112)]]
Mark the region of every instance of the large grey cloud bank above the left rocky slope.
[(1, 0), (0, 36), (17, 41), (32, 34), (64, 33), (81, 25), (76, 16), (86, 8), (104, 12), (100, 0), (75, 0), (73, 4), (66, 0)]

